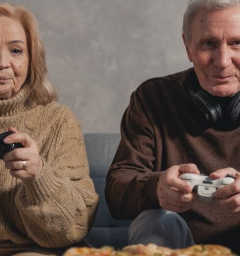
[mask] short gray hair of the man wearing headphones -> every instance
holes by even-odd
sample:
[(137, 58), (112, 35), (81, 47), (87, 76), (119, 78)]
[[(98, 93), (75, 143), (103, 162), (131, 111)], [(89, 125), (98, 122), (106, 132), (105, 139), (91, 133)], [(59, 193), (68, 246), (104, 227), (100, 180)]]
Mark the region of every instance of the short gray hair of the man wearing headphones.
[(240, 4), (240, 0), (189, 0), (188, 7), (183, 16), (183, 33), (186, 43), (190, 43), (192, 19), (200, 8), (223, 9), (237, 4)]

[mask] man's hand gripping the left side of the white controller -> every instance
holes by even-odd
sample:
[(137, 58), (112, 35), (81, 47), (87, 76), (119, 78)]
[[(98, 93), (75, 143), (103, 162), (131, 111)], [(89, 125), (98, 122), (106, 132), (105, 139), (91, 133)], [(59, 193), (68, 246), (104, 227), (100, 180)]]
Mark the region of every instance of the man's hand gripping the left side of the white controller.
[(189, 210), (194, 204), (194, 193), (190, 185), (178, 177), (183, 173), (200, 174), (196, 165), (174, 165), (161, 173), (157, 183), (160, 207), (173, 212)]

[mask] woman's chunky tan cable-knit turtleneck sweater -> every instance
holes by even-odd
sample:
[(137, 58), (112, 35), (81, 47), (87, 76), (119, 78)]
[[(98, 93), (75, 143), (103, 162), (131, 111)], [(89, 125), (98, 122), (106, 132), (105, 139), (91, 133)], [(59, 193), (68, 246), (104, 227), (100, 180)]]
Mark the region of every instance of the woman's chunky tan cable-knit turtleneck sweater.
[(22, 181), (0, 160), (0, 256), (79, 242), (91, 228), (98, 202), (75, 116), (57, 102), (24, 106), (27, 95), (22, 87), (0, 101), (0, 132), (12, 126), (29, 134), (43, 168), (37, 180)]

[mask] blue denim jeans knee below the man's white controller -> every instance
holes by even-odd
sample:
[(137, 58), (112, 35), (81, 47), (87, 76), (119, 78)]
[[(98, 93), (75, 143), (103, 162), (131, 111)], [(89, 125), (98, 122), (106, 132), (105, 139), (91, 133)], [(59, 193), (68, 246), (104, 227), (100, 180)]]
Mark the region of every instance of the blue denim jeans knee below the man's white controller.
[(171, 249), (194, 244), (185, 220), (175, 212), (164, 209), (145, 210), (132, 222), (129, 244), (154, 243)]

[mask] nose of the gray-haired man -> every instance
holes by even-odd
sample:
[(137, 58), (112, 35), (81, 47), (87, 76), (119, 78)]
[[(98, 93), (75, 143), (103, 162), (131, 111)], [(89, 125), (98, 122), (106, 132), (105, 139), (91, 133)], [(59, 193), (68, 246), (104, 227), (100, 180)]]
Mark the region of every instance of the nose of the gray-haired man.
[(232, 64), (232, 51), (228, 46), (219, 46), (214, 53), (214, 65), (220, 69), (226, 69)]

